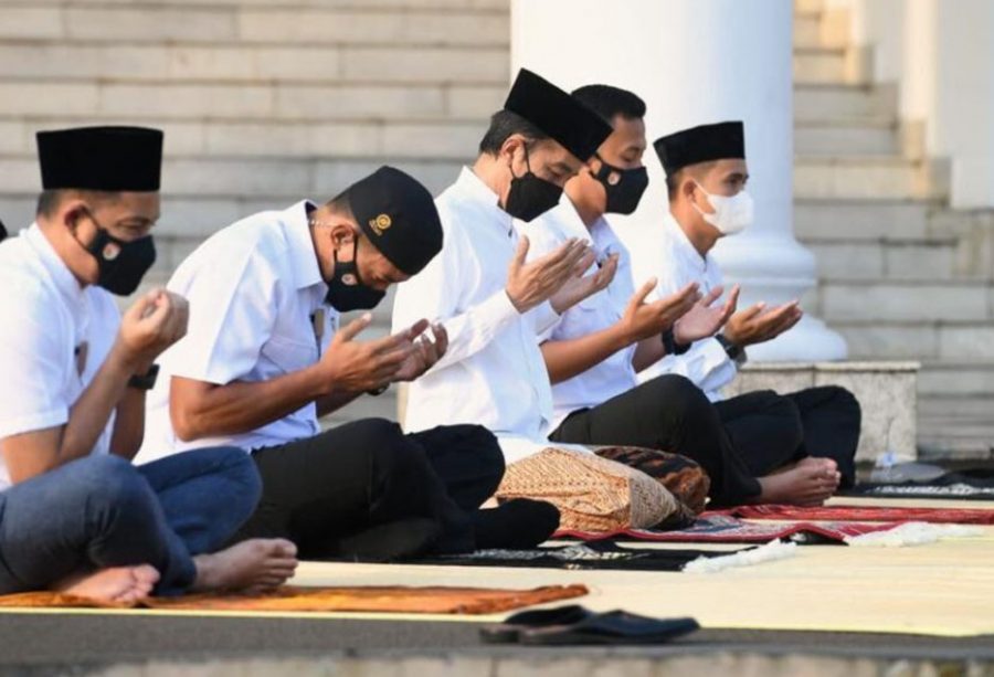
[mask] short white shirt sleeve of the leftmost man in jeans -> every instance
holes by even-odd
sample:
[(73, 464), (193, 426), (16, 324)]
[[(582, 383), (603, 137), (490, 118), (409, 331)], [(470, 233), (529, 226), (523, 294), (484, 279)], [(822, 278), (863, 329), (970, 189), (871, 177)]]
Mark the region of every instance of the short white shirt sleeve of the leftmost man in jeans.
[(0, 300), (0, 440), (64, 425), (70, 373), (66, 359), (73, 336), (62, 322), (45, 314), (42, 294), (8, 289)]

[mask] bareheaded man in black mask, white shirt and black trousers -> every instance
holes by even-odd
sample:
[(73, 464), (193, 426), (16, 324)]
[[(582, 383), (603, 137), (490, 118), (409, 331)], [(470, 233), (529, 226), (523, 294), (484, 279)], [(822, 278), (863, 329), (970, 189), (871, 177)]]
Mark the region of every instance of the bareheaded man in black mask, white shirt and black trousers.
[[(689, 380), (664, 374), (638, 384), (637, 372), (677, 352), (679, 346), (713, 335), (734, 311), (738, 292), (712, 307), (721, 287), (710, 288), (697, 304), (689, 297), (688, 304), (695, 281), (649, 303), (646, 297), (655, 289), (655, 278), (635, 290), (631, 256), (605, 215), (635, 211), (648, 184), (643, 165), (645, 103), (609, 85), (589, 85), (572, 95), (610, 121), (614, 131), (589, 169), (567, 182), (559, 207), (536, 222), (532, 253), (542, 255), (579, 236), (591, 243), (602, 262), (616, 258), (617, 274), (605, 292), (567, 310), (542, 337), (557, 426), (550, 438), (688, 456), (708, 473), (713, 505), (811, 500), (811, 487), (796, 477), (751, 473), (722, 430), (718, 412)], [(811, 484), (822, 483), (815, 476)]]

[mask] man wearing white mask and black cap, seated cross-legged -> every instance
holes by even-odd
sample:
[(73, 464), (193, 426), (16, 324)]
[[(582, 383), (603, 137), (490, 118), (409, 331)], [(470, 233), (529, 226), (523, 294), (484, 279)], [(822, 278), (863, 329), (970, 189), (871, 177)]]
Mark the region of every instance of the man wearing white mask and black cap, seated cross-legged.
[[(649, 272), (659, 278), (654, 293), (663, 297), (697, 282), (707, 294), (722, 284), (712, 248), (753, 220), (752, 198), (745, 191), (743, 125), (692, 127), (657, 139), (654, 147), (669, 193), (662, 257), (656, 254)], [(639, 377), (678, 373), (694, 381), (716, 402), (755, 476), (791, 464), (815, 472), (834, 461), (842, 485), (852, 485), (860, 426), (859, 404), (852, 393), (825, 387), (786, 395), (757, 391), (722, 401), (719, 392), (736, 378), (749, 346), (776, 338), (802, 315), (796, 300), (775, 307), (754, 304), (732, 315), (715, 337), (696, 341), (683, 355), (667, 356)]]

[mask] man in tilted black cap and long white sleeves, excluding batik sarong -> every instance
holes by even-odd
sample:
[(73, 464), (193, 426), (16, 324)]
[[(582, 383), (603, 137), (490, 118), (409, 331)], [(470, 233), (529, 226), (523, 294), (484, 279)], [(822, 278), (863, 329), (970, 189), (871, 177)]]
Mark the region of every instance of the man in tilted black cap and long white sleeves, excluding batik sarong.
[(427, 317), (448, 335), (445, 356), (411, 384), (408, 430), (480, 423), (497, 434), (508, 462), (543, 446), (552, 401), (537, 334), (600, 290), (613, 266), (581, 278), (593, 254), (578, 241), (526, 263), (528, 239), (518, 239), (514, 220), (554, 207), (610, 133), (568, 93), (518, 73), (476, 162), (435, 201), (442, 253), (398, 288), (394, 331)]

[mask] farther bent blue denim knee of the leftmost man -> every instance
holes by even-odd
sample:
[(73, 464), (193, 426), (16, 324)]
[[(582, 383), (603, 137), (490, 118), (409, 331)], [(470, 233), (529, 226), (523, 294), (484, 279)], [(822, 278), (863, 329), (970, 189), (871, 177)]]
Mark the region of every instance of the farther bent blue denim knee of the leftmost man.
[(190, 554), (213, 552), (248, 519), (262, 495), (255, 464), (235, 447), (194, 449), (138, 467)]

